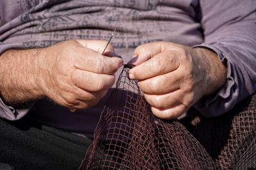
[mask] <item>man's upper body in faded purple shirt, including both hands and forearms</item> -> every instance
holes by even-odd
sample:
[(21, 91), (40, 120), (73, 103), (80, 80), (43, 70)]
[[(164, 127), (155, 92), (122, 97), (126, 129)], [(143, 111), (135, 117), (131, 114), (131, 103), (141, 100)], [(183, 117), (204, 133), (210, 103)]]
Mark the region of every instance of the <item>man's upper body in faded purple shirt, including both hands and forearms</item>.
[[(108, 95), (100, 99), (128, 61), (136, 65), (129, 78), (160, 118), (191, 106), (218, 116), (255, 92), (255, 1), (1, 4), (0, 115), (8, 120), (24, 117), (92, 138)], [(111, 45), (101, 55), (106, 41), (84, 40), (108, 39), (115, 27), (112, 45), (124, 61)]]

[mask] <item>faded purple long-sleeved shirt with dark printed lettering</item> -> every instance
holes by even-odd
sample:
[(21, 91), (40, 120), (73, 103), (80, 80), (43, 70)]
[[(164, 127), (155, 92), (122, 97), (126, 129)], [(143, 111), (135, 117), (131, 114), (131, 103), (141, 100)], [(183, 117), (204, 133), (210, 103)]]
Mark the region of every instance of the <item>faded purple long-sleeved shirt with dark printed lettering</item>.
[[(211, 48), (227, 63), (227, 81), (194, 107), (205, 117), (214, 117), (256, 90), (255, 9), (253, 0), (2, 0), (0, 53), (10, 48), (51, 46), (67, 39), (108, 40), (115, 27), (118, 32), (111, 43), (124, 62), (131, 59), (136, 46), (151, 41)], [(75, 113), (40, 100), (29, 116), (91, 136), (104, 100), (106, 97), (97, 106)], [(31, 108), (14, 114), (12, 106), (0, 99), (0, 117), (9, 120), (23, 117)]]

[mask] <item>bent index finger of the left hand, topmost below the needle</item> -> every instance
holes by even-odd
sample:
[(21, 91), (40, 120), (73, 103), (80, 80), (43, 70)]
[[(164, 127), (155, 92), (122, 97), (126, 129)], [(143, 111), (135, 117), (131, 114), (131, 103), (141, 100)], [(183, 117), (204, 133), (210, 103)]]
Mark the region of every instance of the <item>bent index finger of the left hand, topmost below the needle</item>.
[[(79, 53), (79, 52), (77, 52)], [(84, 71), (99, 74), (114, 74), (123, 66), (123, 60), (118, 57), (105, 57), (94, 50), (84, 48), (76, 57), (75, 66)]]

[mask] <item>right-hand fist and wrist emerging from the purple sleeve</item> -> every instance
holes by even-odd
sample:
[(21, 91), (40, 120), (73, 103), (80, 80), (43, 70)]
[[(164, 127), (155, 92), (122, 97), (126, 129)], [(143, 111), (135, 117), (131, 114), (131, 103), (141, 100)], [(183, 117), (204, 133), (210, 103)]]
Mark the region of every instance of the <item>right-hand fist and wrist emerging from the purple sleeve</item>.
[(134, 56), (130, 64), (136, 67), (129, 71), (129, 78), (139, 81), (159, 118), (179, 117), (225, 83), (224, 64), (206, 48), (154, 42), (138, 46)]

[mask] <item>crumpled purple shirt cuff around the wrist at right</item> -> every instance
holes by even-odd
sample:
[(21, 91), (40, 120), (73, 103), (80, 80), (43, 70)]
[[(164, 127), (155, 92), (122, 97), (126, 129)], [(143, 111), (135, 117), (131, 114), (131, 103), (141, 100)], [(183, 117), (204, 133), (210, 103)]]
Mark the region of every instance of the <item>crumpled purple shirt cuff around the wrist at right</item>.
[[(193, 107), (198, 110), (204, 117), (216, 117), (228, 110), (231, 110), (236, 102), (230, 102), (232, 95), (232, 88), (235, 85), (235, 80), (232, 77), (232, 66), (230, 59), (227, 55), (224, 55), (220, 50), (212, 45), (202, 44), (193, 47), (204, 47), (218, 54), (221, 62), (224, 62), (227, 66), (226, 82), (217, 92), (210, 96), (203, 97)], [(235, 88), (236, 89), (236, 88)]]

